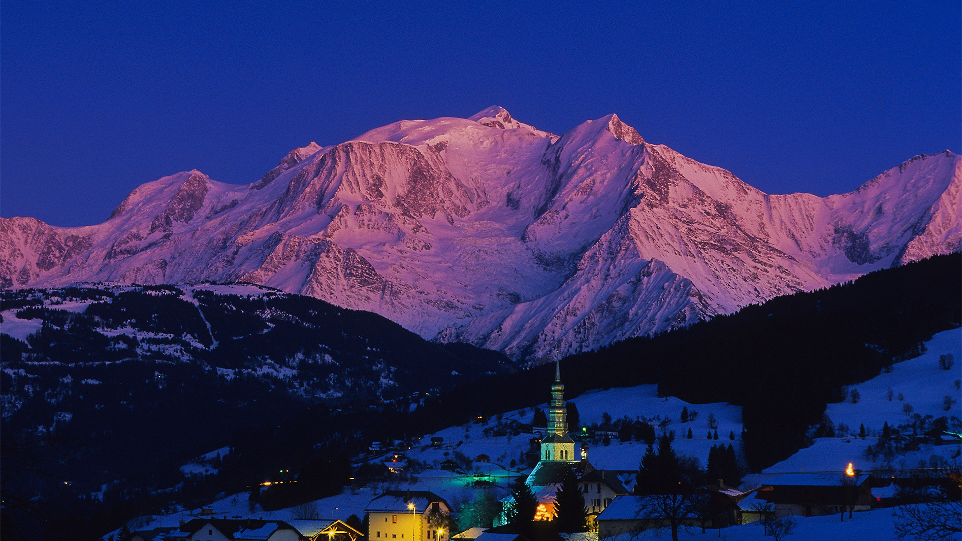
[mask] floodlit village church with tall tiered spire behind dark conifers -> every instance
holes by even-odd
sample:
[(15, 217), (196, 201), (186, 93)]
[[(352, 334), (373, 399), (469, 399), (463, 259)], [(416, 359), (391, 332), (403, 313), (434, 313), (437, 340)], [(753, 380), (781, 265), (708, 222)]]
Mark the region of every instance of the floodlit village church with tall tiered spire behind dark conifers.
[(636, 474), (596, 470), (588, 462), (588, 445), (579, 445), (570, 437), (565, 385), (561, 382), (561, 368), (556, 362), (551, 401), (548, 403), (547, 431), (541, 441), (541, 458), (524, 481), (538, 500), (535, 520), (554, 520), (555, 493), (565, 471), (570, 468), (578, 477), (578, 488), (585, 501), (590, 525), (616, 496), (630, 493), (625, 484), (633, 484)]

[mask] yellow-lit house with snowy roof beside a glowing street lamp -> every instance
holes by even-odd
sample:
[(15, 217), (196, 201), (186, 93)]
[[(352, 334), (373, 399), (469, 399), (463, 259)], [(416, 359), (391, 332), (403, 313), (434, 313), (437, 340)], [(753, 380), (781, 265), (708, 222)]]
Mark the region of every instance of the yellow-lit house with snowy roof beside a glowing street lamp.
[(443, 541), (450, 532), (431, 524), (432, 516), (450, 514), (444, 499), (424, 490), (388, 491), (370, 501), (367, 539), (376, 541)]

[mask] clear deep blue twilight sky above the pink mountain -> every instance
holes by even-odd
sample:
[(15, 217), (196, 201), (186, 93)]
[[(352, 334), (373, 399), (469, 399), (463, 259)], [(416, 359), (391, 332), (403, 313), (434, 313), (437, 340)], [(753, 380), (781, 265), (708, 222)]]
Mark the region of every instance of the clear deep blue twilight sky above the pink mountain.
[(167, 174), (251, 182), (493, 104), (558, 134), (617, 113), (768, 193), (960, 151), (958, 0), (194, 4), (0, 3), (0, 216), (97, 223)]

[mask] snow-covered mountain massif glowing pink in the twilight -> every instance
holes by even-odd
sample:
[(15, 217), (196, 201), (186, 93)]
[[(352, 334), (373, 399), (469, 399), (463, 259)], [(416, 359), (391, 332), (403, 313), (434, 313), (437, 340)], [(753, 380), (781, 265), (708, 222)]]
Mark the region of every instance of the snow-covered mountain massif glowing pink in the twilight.
[(769, 195), (618, 116), (556, 136), (499, 107), (291, 151), (249, 185), (200, 171), (110, 219), (0, 219), (0, 284), (248, 281), (528, 360), (962, 250), (962, 162), (852, 193)]

